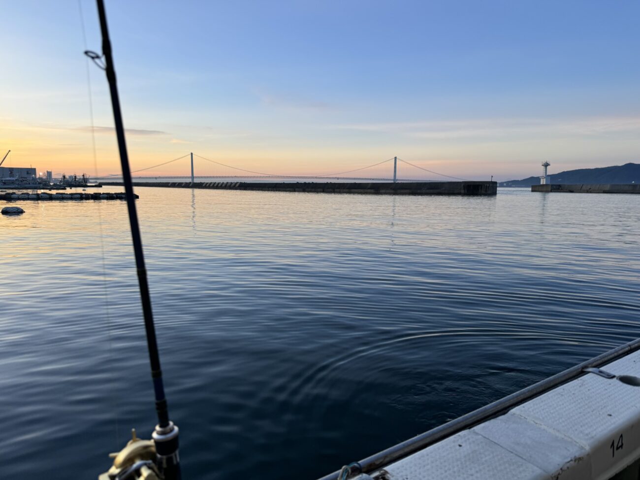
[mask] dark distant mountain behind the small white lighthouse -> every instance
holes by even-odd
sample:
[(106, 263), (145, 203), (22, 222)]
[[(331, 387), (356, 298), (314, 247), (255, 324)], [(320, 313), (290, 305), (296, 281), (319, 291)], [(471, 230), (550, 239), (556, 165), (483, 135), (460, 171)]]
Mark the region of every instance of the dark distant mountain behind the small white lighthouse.
[[(640, 183), (640, 163), (625, 163), (624, 165), (604, 166), (601, 168), (580, 168), (566, 170), (566, 172), (549, 175), (551, 183)], [(540, 177), (528, 177), (522, 180), (508, 180), (499, 182), (499, 187), (531, 187), (540, 185)]]

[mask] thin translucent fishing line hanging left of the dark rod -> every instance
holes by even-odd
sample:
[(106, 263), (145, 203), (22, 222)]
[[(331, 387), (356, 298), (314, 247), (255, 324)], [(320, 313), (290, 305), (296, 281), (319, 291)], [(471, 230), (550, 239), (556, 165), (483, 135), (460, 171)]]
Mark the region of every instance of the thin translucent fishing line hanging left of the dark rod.
[[(80, 13), (80, 25), (82, 28), (82, 36), (84, 42), (84, 50), (86, 51), (87, 43), (86, 43), (86, 31), (84, 30), (84, 14), (82, 10), (82, 0), (78, 0), (78, 10)], [(86, 67), (86, 84), (87, 84), (87, 94), (89, 98), (89, 115), (91, 121), (91, 141), (93, 148), (93, 175), (95, 177), (98, 176), (98, 159), (97, 159), (97, 149), (95, 147), (95, 122), (93, 121), (93, 95), (92, 95), (92, 87), (91, 87), (91, 71), (89, 68), (89, 58), (86, 58), (84, 61), (84, 65)], [(98, 207), (98, 228), (99, 228), (99, 238), (100, 238), (100, 257), (102, 259), (102, 284), (104, 288), (104, 307), (106, 310), (106, 323), (107, 323), (107, 338), (108, 338), (108, 360), (109, 363), (113, 362), (115, 355), (113, 355), (113, 335), (111, 335), (111, 316), (109, 314), (109, 289), (107, 282), (107, 272), (106, 272), (106, 260), (104, 259), (104, 233), (102, 229), (102, 202), (96, 202)], [(116, 378), (113, 376), (111, 380), (111, 395), (109, 395), (109, 399), (111, 400), (111, 410), (115, 413), (115, 441), (116, 446), (120, 445), (120, 425), (118, 423), (118, 397), (116, 396), (116, 392), (118, 391), (116, 388)]]

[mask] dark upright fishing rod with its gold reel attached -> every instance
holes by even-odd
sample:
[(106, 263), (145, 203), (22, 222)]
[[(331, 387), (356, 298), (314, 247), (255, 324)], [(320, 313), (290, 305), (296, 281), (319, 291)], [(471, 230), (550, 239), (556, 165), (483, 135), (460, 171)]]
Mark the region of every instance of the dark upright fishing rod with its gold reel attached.
[[(162, 371), (160, 369), (160, 356), (158, 353), (156, 341), (156, 328), (154, 326), (154, 316), (151, 308), (151, 296), (149, 294), (149, 285), (147, 281), (147, 268), (145, 267), (145, 255), (142, 249), (142, 239), (140, 237), (140, 225), (138, 225), (138, 212), (136, 212), (136, 200), (133, 193), (133, 184), (131, 181), (131, 168), (129, 167), (129, 156), (127, 155), (127, 143), (124, 135), (124, 124), (122, 123), (122, 111), (120, 110), (120, 99), (118, 97), (118, 85), (116, 83), (116, 73), (113, 67), (113, 56), (111, 54), (111, 41), (109, 40), (109, 29), (107, 27), (107, 17), (104, 10), (103, 0), (96, 0), (98, 6), (98, 15), (100, 17), (100, 31), (102, 31), (102, 56), (92, 51), (85, 51), (84, 54), (91, 58), (96, 65), (106, 72), (109, 82), (109, 91), (111, 92), (111, 106), (113, 108), (113, 121), (115, 123), (116, 137), (118, 138), (118, 150), (120, 151), (120, 164), (122, 165), (122, 179), (124, 182), (125, 196), (127, 198), (127, 209), (129, 211), (129, 224), (131, 226), (131, 239), (133, 243), (134, 256), (136, 258), (136, 269), (138, 270), (138, 285), (140, 287), (140, 300), (142, 303), (142, 312), (145, 319), (145, 332), (147, 333), (147, 349), (149, 353), (149, 362), (151, 365), (151, 377), (154, 383), (154, 394), (156, 396), (156, 411), (158, 423), (152, 433), (153, 444), (156, 452), (156, 468), (164, 480), (180, 480), (180, 457), (178, 454), (178, 427), (169, 420), (169, 411), (164, 396), (164, 385), (162, 380)], [(104, 62), (104, 63), (102, 63)], [(113, 476), (109, 478), (134, 478), (135, 476), (146, 477), (143, 468), (152, 467), (148, 463), (148, 448), (151, 442), (141, 445), (140, 440), (136, 439), (135, 433), (129, 445), (123, 449), (116, 460), (120, 460), (119, 470), (113, 471)], [(144, 441), (142, 441), (144, 442)], [(135, 447), (135, 448), (132, 448)], [(127, 451), (129, 449), (129, 451)], [(136, 451), (138, 456), (132, 454)], [(120, 457), (120, 459), (119, 459)], [(131, 460), (131, 465), (126, 465)], [(135, 460), (135, 461), (134, 461)], [(109, 470), (111, 472), (112, 470)], [(108, 472), (108, 473), (109, 473)]]

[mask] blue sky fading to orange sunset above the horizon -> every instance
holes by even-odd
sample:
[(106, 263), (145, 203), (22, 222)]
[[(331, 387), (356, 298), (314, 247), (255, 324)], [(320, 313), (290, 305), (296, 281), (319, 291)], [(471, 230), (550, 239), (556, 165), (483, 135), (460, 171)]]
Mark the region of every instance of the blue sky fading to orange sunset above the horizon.
[[(4, 166), (117, 173), (92, 0), (0, 0)], [(640, 3), (106, 0), (132, 169), (509, 180), (640, 162)], [(91, 102), (90, 102), (91, 99)], [(92, 125), (95, 135), (92, 135)], [(95, 161), (92, 137), (95, 136)], [(188, 175), (187, 161), (154, 174)], [(197, 174), (197, 173), (196, 173)]]

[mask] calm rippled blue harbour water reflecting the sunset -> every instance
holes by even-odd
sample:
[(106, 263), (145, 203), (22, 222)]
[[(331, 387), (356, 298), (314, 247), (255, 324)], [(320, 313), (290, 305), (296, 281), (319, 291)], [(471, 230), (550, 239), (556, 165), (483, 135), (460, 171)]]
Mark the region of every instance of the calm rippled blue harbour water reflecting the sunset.
[[(138, 193), (185, 478), (313, 480), (640, 336), (638, 196)], [(19, 205), (3, 476), (96, 478), (154, 426), (125, 204)]]

